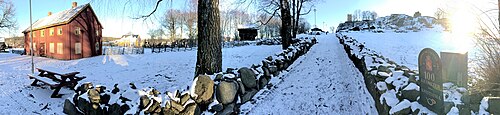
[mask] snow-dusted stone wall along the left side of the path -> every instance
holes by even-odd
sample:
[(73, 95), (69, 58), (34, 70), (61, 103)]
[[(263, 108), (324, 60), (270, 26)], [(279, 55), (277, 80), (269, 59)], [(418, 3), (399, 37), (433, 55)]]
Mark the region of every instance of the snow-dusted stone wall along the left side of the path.
[(183, 91), (165, 92), (137, 88), (133, 83), (113, 87), (82, 83), (64, 102), (64, 113), (77, 114), (238, 114), (240, 105), (252, 100), (269, 81), (286, 70), (316, 43), (315, 38), (293, 39), (283, 52), (251, 67), (227, 68), (215, 75), (200, 75)]

